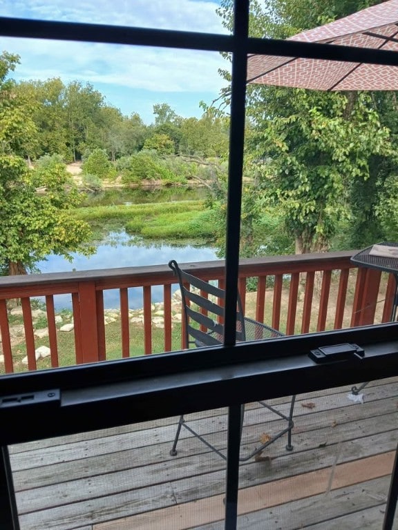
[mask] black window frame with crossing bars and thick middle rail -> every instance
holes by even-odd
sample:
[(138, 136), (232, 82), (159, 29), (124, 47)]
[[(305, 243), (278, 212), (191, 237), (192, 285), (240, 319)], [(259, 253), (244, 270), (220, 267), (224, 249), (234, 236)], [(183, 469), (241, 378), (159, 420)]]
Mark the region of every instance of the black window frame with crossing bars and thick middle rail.
[[(59, 391), (61, 397), (28, 406), (0, 406), (1, 425), (8, 425), (0, 432), (3, 462), (6, 462), (5, 466), (0, 464), (0, 489), (9, 493), (8, 499), (0, 506), (0, 513), (3, 513), (3, 516), (0, 515), (0, 529), (11, 528), (11, 522), (14, 525), (12, 528), (18, 528), (12, 484), (10, 487), (8, 483), (7, 444), (218, 406), (229, 406), (225, 527), (234, 529), (240, 403), (398, 375), (397, 323), (235, 344), (247, 56), (273, 53), (285, 57), (398, 66), (398, 53), (250, 38), (249, 0), (235, 0), (234, 9), (235, 23), (231, 35), (0, 17), (0, 35), (3, 37), (226, 51), (232, 56), (225, 344), (189, 353), (180, 351), (1, 376), (0, 396)], [(360, 344), (366, 350), (366, 357), (363, 360), (348, 360), (341, 370), (339, 363), (316, 365), (307, 355), (310, 349), (341, 342)], [(96, 414), (99, 409), (101, 414)]]

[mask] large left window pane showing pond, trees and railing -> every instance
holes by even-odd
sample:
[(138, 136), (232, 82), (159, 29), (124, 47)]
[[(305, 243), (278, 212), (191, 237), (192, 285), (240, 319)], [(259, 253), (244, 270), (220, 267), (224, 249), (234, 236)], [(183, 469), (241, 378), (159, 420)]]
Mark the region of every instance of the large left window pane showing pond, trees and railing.
[[(0, 90), (19, 124), (9, 142), (21, 161), (6, 182), (2, 237), (12, 265), (4, 261), (4, 271), (17, 272), (19, 260), (28, 273), (64, 275), (0, 279), (0, 371), (180, 349), (182, 309), (167, 264), (215, 261), (216, 239), (225, 239), (211, 204), (219, 194), (225, 202), (229, 118), (207, 106), (226, 83), (218, 68), (229, 64), (217, 52), (1, 43)], [(64, 183), (57, 189), (55, 176)], [(72, 216), (54, 215), (66, 206)], [(86, 228), (79, 235), (82, 222), (89, 237)], [(149, 283), (148, 266), (158, 266)], [(93, 271), (92, 281), (82, 271)]]

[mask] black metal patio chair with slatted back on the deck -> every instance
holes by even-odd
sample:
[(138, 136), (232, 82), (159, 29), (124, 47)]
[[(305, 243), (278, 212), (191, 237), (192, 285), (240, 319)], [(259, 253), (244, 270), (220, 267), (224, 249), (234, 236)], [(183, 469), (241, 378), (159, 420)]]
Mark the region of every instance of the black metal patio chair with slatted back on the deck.
[[(193, 276), (178, 266), (178, 263), (173, 259), (169, 262), (169, 267), (173, 270), (178, 278), (180, 284), (182, 297), (182, 313), (184, 320), (184, 331), (186, 337), (187, 348), (200, 346), (215, 346), (222, 344), (224, 326), (224, 300), (225, 291), (216, 287), (209, 282)], [(281, 337), (283, 333), (269, 326), (256, 322), (243, 315), (242, 302), (238, 294), (238, 304), (236, 308), (236, 340), (238, 342), (246, 340), (263, 340), (272, 337)], [(285, 420), (284, 428), (280, 429), (273, 435), (263, 435), (260, 440), (260, 446), (250, 451), (246, 455), (240, 456), (240, 462), (245, 462), (255, 455), (260, 455), (264, 449), (270, 444), (274, 443), (278, 438), (287, 433), (287, 451), (292, 451), (292, 429), (293, 429), (293, 411), (296, 396), (293, 395), (290, 400), (289, 411), (287, 414), (278, 411), (274, 406), (271, 406), (264, 401), (259, 401), (267, 411), (271, 411), (278, 418)], [(243, 429), (243, 421), (245, 415), (245, 404), (242, 405), (242, 418), (240, 433)], [(209, 440), (202, 437), (193, 427), (185, 420), (184, 415), (180, 416), (178, 422), (176, 436), (174, 438), (173, 446), (170, 451), (171, 456), (177, 454), (177, 444), (180, 438), (181, 429), (187, 429), (191, 434), (196, 436), (201, 442), (206, 444), (209, 449), (220, 455), (226, 460), (226, 455), (217, 449)]]

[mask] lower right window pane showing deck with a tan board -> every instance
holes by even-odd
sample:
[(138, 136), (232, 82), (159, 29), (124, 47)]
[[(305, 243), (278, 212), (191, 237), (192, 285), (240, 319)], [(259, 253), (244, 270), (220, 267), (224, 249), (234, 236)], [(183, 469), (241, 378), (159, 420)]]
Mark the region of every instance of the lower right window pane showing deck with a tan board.
[[(375, 381), (357, 395), (350, 387), (298, 395), (292, 451), (285, 435), (240, 467), (238, 528), (381, 528), (397, 445), (396, 426), (390, 430), (396, 384)], [(267, 404), (286, 414), (285, 402)], [(248, 408), (243, 431), (258, 447), (286, 426), (270, 415), (257, 428), (252, 415)]]

